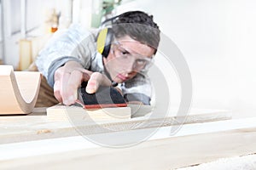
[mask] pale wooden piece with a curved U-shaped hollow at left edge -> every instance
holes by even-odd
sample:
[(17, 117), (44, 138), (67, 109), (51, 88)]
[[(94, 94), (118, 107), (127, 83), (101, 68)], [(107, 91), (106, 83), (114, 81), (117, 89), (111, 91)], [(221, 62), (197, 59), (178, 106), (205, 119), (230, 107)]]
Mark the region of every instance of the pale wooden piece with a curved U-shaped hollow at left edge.
[(11, 65), (0, 65), (0, 115), (31, 113), (40, 82), (39, 72), (14, 71)]

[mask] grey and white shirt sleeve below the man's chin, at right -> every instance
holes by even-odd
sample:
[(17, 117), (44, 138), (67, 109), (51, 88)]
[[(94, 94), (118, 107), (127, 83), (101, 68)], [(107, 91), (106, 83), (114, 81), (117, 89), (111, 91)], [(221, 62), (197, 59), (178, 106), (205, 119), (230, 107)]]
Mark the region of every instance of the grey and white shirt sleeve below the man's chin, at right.
[(127, 102), (141, 101), (144, 105), (150, 105), (152, 86), (146, 73), (138, 73), (136, 77), (123, 83), (119, 88), (122, 89)]

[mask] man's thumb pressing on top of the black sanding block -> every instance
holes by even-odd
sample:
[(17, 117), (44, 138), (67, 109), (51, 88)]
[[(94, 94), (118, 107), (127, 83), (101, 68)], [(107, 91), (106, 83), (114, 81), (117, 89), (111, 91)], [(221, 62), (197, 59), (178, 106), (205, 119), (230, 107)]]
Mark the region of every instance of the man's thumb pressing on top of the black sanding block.
[(102, 75), (99, 72), (94, 72), (90, 75), (90, 79), (86, 87), (86, 92), (88, 94), (94, 94), (96, 93), (100, 85), (111, 86), (111, 81), (105, 75)]

